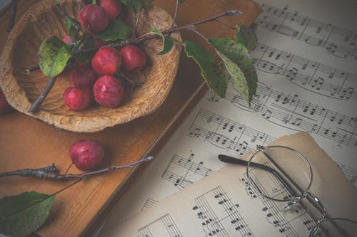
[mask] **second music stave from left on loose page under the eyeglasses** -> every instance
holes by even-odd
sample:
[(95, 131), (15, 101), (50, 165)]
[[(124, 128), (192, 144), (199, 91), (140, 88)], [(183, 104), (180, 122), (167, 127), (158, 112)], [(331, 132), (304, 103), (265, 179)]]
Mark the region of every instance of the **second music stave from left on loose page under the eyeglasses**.
[(195, 201), (192, 210), (202, 221), (201, 228), (206, 236), (226, 237), (230, 236), (228, 233), (254, 236), (239, 213), (239, 204), (234, 203), (221, 186), (196, 197)]

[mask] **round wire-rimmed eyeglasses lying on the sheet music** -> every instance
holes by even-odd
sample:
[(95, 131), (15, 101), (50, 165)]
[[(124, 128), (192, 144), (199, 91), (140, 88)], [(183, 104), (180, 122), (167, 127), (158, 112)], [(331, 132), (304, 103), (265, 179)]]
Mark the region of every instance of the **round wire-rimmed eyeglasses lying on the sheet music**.
[[(246, 177), (257, 194), (273, 201), (286, 202), (285, 210), (294, 209), (306, 199), (318, 211), (315, 225), (308, 228), (308, 237), (356, 236), (357, 221), (332, 218), (325, 206), (309, 190), (313, 182), (313, 169), (308, 159), (296, 149), (285, 146), (257, 147), (247, 161), (219, 155), (222, 162), (246, 166)], [(309, 211), (310, 212), (310, 211)], [(315, 215), (316, 216), (316, 215)]]

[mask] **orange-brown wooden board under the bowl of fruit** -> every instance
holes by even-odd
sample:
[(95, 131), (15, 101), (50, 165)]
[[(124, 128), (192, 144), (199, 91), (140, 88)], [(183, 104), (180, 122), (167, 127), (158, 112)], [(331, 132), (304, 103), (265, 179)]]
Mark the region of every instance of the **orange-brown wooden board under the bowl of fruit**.
[[(24, 11), (37, 1), (20, 0), (16, 19), (19, 19)], [(174, 12), (174, 1), (156, 0), (155, 4), (169, 11), (170, 14)], [(178, 25), (198, 21), (231, 9), (244, 12), (243, 16), (223, 20), (231, 25), (238, 21), (250, 24), (261, 11), (256, 4), (248, 0), (188, 0), (180, 6)], [(6, 7), (0, 12), (1, 50), (7, 37), (8, 10), (9, 7)], [(209, 23), (200, 26), (199, 29), (207, 37), (233, 36), (234, 33), (218, 23)], [(183, 32), (182, 35), (186, 40), (202, 42), (192, 33)], [(154, 145), (163, 135), (169, 136), (173, 132), (173, 130), (169, 131), (169, 128), (183, 112), (183, 108), (190, 104), (193, 94), (199, 91), (202, 83), (198, 67), (186, 57), (181, 57), (174, 87), (159, 110), (126, 125), (118, 125), (93, 134), (57, 130), (19, 112), (3, 115), (0, 117), (0, 172), (45, 167), (53, 162), (61, 172), (64, 172), (71, 164), (69, 147), (79, 139), (97, 139), (105, 145), (104, 166), (127, 164), (141, 159), (146, 154), (153, 154)], [(206, 87), (202, 88), (199, 95), (206, 90)], [(161, 141), (160, 144), (164, 142)], [(124, 181), (134, 173), (131, 171), (132, 169), (119, 170), (85, 179), (61, 192), (56, 196), (49, 220), (38, 233), (41, 236), (89, 235), (94, 221), (100, 214), (105, 215), (108, 207), (114, 204), (117, 196), (120, 196)], [(79, 171), (72, 167), (70, 172)], [(136, 174), (139, 175), (137, 172)], [(0, 197), (30, 190), (51, 194), (66, 184), (68, 183), (34, 178), (6, 177), (0, 180)]]

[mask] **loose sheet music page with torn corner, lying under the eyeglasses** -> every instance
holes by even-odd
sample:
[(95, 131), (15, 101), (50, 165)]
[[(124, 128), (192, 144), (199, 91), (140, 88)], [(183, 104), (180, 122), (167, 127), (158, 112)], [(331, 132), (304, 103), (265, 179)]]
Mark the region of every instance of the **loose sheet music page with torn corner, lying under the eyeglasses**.
[[(356, 208), (357, 189), (308, 133), (281, 137), (274, 144), (298, 149), (306, 155), (314, 174), (311, 191), (321, 199), (331, 216), (357, 219), (356, 211), (351, 208)], [(247, 154), (243, 159), (249, 157)], [(250, 176), (250, 179), (258, 187), (273, 182), (260, 179), (258, 175)], [(281, 186), (276, 188), (280, 189), (279, 195), (288, 194)], [(313, 219), (306, 211), (308, 208), (297, 206), (293, 211), (284, 212), (281, 211), (282, 203), (263, 198), (253, 190), (247, 182), (246, 167), (228, 164), (103, 234), (139, 237), (306, 236), (313, 225)], [(339, 198), (341, 194), (346, 196), (343, 202)], [(354, 231), (357, 231), (356, 226)]]

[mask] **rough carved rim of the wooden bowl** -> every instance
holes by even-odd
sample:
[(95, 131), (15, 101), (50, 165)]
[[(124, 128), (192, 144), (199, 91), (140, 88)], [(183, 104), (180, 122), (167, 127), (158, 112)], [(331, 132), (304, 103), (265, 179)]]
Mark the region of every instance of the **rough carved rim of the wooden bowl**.
[[(79, 4), (79, 2), (81, 1), (64, 0), (61, 1), (61, 4)], [(14, 63), (12, 60), (13, 53), (16, 48), (16, 42), (21, 36), (21, 33), (26, 28), (27, 24), (38, 22), (42, 15), (49, 13), (49, 11), (56, 11), (54, 10), (55, 8), (56, 6), (52, 0), (44, 0), (38, 4), (35, 4), (28, 11), (26, 11), (20, 21), (16, 23), (16, 26), (11, 31), (11, 33), (9, 33), (0, 58), (0, 87), (6, 96), (6, 100), (8, 100), (12, 107), (14, 107), (19, 112), (23, 112), (24, 114), (45, 122), (48, 125), (53, 125), (54, 127), (72, 132), (98, 132), (104, 130), (106, 127), (113, 127), (114, 125), (124, 124), (138, 117), (149, 115), (160, 107), (160, 105), (169, 95), (171, 87), (174, 83), (174, 79), (178, 70), (178, 62), (181, 55), (181, 46), (178, 45), (178, 43), (174, 43), (174, 48), (172, 48), (169, 53), (164, 56), (158, 56), (156, 53), (161, 50), (161, 41), (159, 39), (154, 39), (151, 40), (151, 42), (156, 41), (156, 43), (154, 42), (156, 45), (156, 53), (150, 53), (150, 57), (154, 57), (154, 59), (162, 57), (159, 59), (161, 62), (164, 62), (162, 63), (163, 65), (161, 65), (161, 70), (165, 72), (165, 74), (159, 76), (157, 75), (159, 72), (156, 73), (150, 71), (154, 70), (154, 68), (145, 69), (144, 75), (150, 74), (152, 75), (152, 78), (146, 78), (147, 83), (144, 83), (144, 86), (139, 88), (139, 90), (134, 91), (134, 94), (148, 93), (148, 95), (151, 95), (150, 97), (145, 98), (144, 95), (136, 97), (133, 96), (133, 101), (126, 102), (126, 104), (114, 109), (101, 108), (96, 116), (90, 117), (88, 115), (85, 116), (86, 110), (84, 110), (84, 112), (79, 111), (70, 112), (69, 114), (61, 114), (59, 112), (51, 112), (46, 109), (41, 110), (40, 107), (39, 112), (27, 112), (31, 102), (26, 96), (26, 90), (24, 90), (24, 88), (19, 85), (18, 80), (16, 80), (16, 73), (19, 75), (19, 68), (16, 68), (16, 63)], [(144, 10), (141, 13), (141, 19), (145, 16), (150, 16), (152, 13), (155, 13), (156, 16), (161, 17), (161, 19), (167, 19), (168, 21), (166, 22), (166, 25), (171, 26), (172, 17), (158, 6), (152, 6), (151, 8)], [(148, 21), (145, 22), (147, 23)], [(160, 24), (162, 24), (162, 22), (160, 22)], [(171, 37), (181, 41), (180, 33), (172, 33)], [(152, 45), (151, 42), (148, 41), (146, 46)], [(29, 67), (30, 66), (32, 65), (29, 65)], [(21, 70), (24, 71), (24, 68), (21, 68)], [(160, 83), (155, 83), (155, 80), (160, 80)], [(161, 83), (161, 80), (164, 83)], [(54, 90), (54, 88), (52, 90)]]

